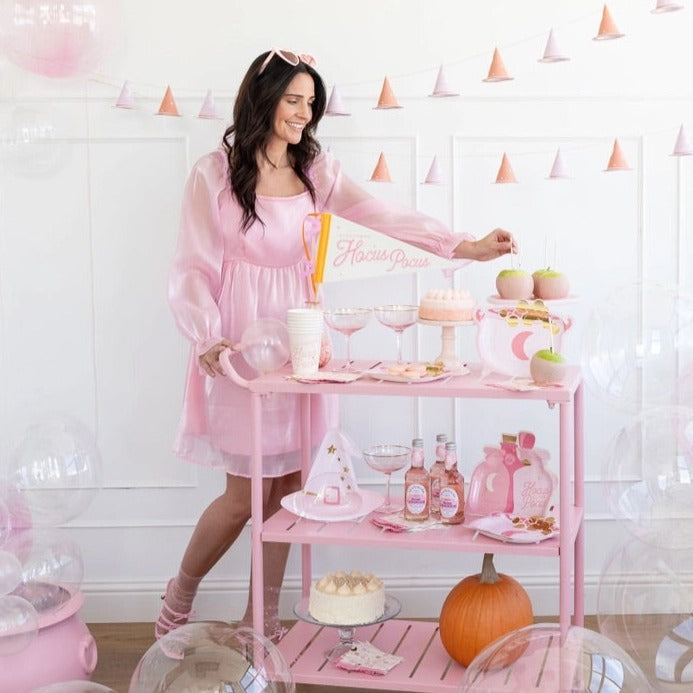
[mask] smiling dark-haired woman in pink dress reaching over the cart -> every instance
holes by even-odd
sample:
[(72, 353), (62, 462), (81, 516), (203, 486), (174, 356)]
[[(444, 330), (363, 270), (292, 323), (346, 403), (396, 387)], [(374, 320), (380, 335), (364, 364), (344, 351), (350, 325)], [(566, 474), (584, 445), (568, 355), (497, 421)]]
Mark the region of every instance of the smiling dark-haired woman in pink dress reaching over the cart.
[[(225, 472), (224, 492), (200, 517), (180, 570), (163, 597), (157, 638), (187, 622), (202, 578), (250, 518), (250, 396), (223, 376), (219, 354), (258, 318), (286, 319), (310, 296), (301, 228), (311, 212), (332, 212), (440, 256), (489, 260), (510, 252), (496, 229), (481, 240), (380, 202), (349, 180), (315, 139), (325, 86), (310, 56), (274, 49), (251, 64), (222, 146), (193, 167), (185, 187), (169, 301), (191, 342), (175, 451)], [(243, 359), (233, 363), (254, 377)], [(300, 488), (297, 398), (268, 398), (263, 410), (263, 513)], [(280, 406), (278, 406), (280, 405)], [(331, 398), (311, 406), (314, 443), (336, 422)], [(278, 600), (289, 544), (264, 547), (265, 633), (281, 637)], [(250, 597), (243, 617), (251, 622)]]

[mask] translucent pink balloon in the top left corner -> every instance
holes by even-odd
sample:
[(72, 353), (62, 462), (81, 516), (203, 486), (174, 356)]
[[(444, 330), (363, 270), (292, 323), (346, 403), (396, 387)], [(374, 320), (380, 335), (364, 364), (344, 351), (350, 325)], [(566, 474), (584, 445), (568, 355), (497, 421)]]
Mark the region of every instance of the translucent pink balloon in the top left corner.
[(74, 77), (98, 65), (114, 26), (116, 0), (0, 0), (7, 58), (46, 77)]

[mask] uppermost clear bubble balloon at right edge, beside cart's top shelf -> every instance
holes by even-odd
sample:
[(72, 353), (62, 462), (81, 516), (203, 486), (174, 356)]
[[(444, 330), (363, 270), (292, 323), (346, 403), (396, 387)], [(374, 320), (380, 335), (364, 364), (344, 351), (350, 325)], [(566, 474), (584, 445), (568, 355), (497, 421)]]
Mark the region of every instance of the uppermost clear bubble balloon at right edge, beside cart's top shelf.
[(614, 289), (590, 316), (582, 365), (595, 395), (622, 412), (693, 406), (693, 296), (648, 282)]

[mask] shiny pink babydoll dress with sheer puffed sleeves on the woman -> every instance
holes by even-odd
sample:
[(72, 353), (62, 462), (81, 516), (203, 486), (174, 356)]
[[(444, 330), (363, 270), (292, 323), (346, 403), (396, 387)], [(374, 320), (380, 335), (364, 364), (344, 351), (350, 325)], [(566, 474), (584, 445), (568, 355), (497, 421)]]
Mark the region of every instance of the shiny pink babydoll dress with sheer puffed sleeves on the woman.
[[(258, 195), (263, 220), (246, 233), (241, 207), (228, 185), (225, 152), (215, 150), (193, 167), (183, 195), (178, 245), (169, 278), (169, 303), (178, 327), (192, 343), (183, 412), (174, 444), (181, 457), (238, 476), (250, 476), (250, 395), (228, 378), (207, 377), (198, 357), (222, 338), (238, 342), (258, 318), (285, 322), (286, 310), (309, 298), (302, 266), (301, 228), (310, 212), (331, 212), (443, 257), (452, 257), (466, 235), (405, 207), (376, 200), (349, 180), (330, 154), (311, 170), (316, 204), (308, 192), (290, 197)], [(253, 372), (240, 354), (235, 368)], [(336, 425), (332, 397), (311, 400), (313, 444)], [(294, 395), (263, 399), (263, 474), (300, 469), (299, 402)]]

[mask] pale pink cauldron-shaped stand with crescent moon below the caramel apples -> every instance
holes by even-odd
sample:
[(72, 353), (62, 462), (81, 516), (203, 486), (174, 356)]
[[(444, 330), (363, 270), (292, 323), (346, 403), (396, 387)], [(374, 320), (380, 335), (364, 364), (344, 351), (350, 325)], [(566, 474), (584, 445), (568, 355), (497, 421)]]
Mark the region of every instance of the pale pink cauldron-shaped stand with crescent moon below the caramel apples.
[(484, 374), (529, 378), (529, 362), (540, 349), (561, 351), (572, 320), (549, 312), (543, 301), (476, 311), (477, 348)]

